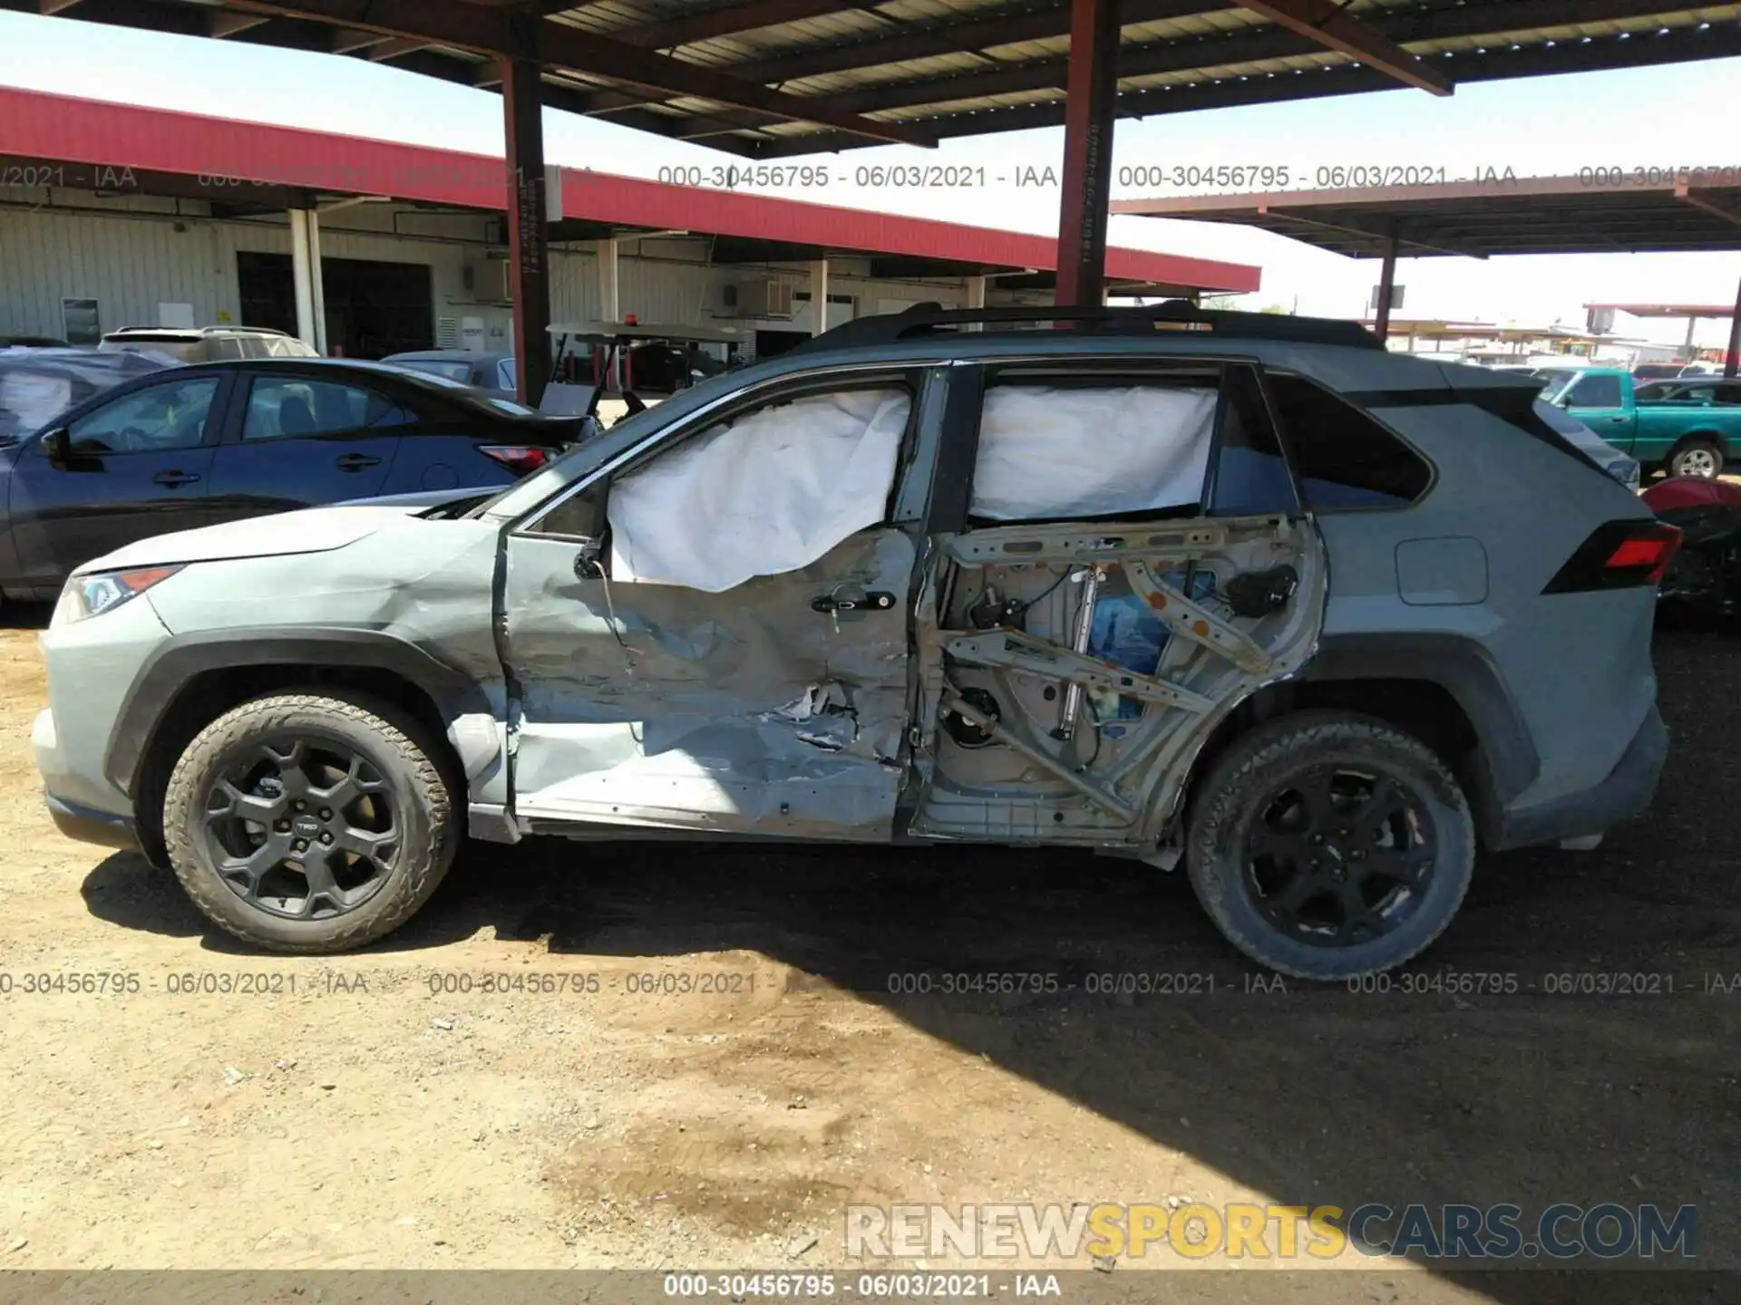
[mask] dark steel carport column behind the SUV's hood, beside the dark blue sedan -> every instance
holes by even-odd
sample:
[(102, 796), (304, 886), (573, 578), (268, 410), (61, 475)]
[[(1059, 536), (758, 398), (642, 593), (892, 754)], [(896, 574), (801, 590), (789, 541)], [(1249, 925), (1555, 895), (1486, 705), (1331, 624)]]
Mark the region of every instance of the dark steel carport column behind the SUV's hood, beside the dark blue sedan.
[(550, 381), (550, 226), (540, 64), (536, 59), (503, 56), (500, 66), (514, 280), (514, 378), (521, 402), (536, 407)]

